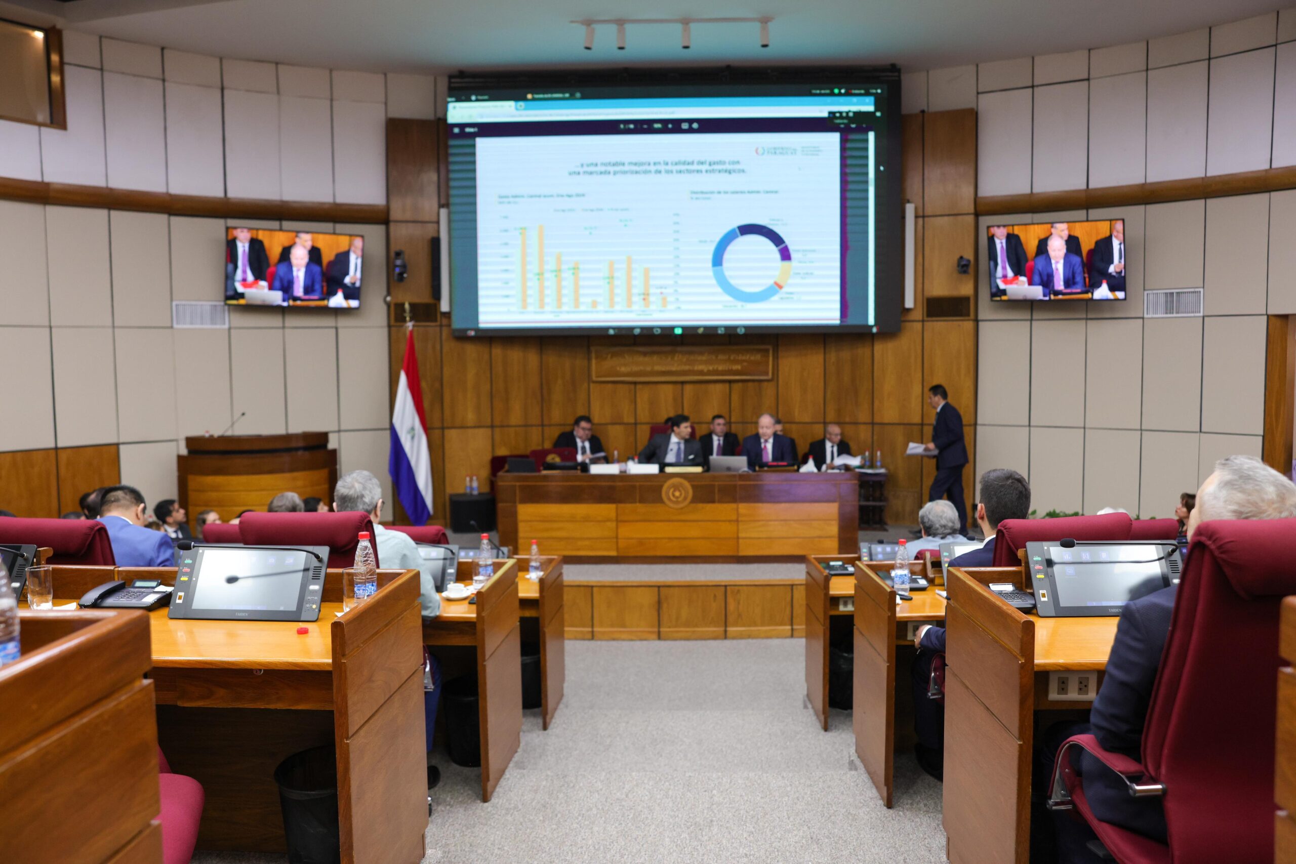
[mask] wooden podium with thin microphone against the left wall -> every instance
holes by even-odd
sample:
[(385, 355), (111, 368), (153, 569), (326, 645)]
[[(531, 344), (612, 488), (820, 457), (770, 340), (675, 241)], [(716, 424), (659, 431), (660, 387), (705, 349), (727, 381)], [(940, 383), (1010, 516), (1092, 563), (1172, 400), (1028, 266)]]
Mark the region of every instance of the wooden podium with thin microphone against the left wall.
[(191, 527), (202, 510), (215, 510), (222, 522), (264, 512), (280, 492), (333, 499), (337, 451), (328, 433), (194, 437), (184, 446), (189, 455), (176, 456), (176, 473)]

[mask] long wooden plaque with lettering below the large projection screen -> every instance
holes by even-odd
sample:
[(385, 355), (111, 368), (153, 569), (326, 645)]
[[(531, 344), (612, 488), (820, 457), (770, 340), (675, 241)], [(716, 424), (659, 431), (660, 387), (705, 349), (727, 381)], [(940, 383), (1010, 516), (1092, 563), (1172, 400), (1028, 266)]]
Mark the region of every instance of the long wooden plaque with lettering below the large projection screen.
[(769, 345), (625, 345), (590, 348), (590, 380), (610, 381), (770, 381)]

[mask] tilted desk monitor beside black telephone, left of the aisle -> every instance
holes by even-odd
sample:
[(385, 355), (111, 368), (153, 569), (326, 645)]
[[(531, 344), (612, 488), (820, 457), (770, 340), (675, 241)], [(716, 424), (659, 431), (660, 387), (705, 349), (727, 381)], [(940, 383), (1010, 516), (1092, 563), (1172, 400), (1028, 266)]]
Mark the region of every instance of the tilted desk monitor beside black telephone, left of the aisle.
[(318, 620), (328, 547), (194, 547), (180, 558), (171, 618)]

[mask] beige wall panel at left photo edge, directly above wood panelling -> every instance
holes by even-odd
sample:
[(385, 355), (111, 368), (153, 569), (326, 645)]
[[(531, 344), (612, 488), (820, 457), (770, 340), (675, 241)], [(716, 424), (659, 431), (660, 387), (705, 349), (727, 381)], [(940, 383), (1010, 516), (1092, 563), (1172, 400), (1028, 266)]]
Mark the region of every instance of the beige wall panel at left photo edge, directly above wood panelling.
[(48, 328), (0, 326), (0, 368), (22, 369), (0, 376), (0, 403), (22, 405), (21, 418), (0, 424), (0, 451), (54, 446), (51, 363)]

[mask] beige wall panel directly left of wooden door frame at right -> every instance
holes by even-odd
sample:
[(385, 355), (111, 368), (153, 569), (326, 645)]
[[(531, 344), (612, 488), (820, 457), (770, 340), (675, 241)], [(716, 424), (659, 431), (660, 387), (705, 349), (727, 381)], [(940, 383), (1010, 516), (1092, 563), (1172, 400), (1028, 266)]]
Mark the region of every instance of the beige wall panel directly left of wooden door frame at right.
[(1208, 317), (1201, 351), (1201, 431), (1265, 430), (1264, 315)]

